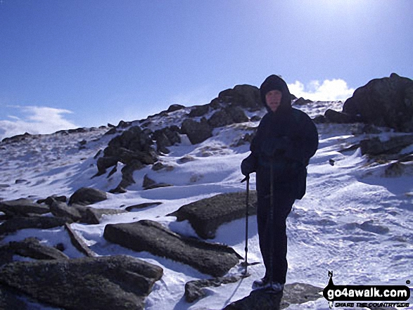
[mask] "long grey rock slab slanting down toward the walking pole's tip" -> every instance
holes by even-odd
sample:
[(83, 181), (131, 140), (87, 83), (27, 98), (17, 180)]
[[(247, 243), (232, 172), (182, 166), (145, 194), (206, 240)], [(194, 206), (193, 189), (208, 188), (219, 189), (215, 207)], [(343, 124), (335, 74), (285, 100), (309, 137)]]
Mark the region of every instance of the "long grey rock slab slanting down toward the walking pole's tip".
[(180, 261), (211, 276), (224, 276), (242, 258), (231, 247), (185, 238), (149, 220), (108, 224), (103, 237), (134, 251)]

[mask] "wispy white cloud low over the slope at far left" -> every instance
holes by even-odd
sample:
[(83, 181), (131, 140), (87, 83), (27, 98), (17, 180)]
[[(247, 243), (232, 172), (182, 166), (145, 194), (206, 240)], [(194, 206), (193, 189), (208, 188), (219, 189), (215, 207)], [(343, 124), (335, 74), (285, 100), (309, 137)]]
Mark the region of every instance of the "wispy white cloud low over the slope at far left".
[(8, 106), (18, 109), (22, 115), (8, 115), (11, 120), (0, 120), (0, 140), (18, 134), (52, 134), (58, 130), (73, 129), (77, 126), (65, 120), (70, 110), (37, 106)]

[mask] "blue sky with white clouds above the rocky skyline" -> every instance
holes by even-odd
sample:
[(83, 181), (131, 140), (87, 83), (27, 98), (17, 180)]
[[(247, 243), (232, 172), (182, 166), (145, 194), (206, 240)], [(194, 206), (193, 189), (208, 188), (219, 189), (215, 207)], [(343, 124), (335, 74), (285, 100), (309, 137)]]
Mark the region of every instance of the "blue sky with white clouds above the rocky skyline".
[(0, 138), (138, 120), (281, 75), (348, 98), (413, 77), (411, 0), (1, 0)]

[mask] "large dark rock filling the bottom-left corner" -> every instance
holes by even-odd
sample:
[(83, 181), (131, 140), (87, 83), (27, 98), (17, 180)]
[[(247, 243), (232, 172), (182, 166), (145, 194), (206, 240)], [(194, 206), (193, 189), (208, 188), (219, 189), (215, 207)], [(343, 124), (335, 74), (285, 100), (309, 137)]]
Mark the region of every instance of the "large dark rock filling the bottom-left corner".
[(0, 283), (64, 309), (144, 309), (163, 269), (127, 256), (18, 261), (0, 268)]

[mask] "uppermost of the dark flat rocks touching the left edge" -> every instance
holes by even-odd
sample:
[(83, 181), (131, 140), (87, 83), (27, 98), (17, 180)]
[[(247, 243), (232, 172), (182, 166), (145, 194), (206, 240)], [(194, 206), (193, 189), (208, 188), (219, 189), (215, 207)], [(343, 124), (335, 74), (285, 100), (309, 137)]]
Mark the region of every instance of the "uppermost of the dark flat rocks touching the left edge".
[(25, 217), (30, 214), (46, 214), (50, 209), (47, 205), (39, 205), (32, 200), (20, 198), (0, 201), (0, 212), (4, 212), (8, 217)]

